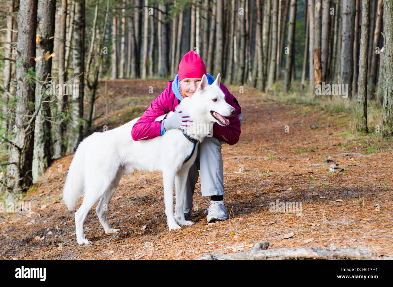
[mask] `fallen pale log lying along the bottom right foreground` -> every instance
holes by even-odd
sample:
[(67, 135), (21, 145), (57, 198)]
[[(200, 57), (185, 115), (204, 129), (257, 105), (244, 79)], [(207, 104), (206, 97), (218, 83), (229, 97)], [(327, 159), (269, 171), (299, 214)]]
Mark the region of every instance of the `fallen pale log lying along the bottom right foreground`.
[(376, 252), (339, 248), (318, 248), (318, 247), (293, 247), (269, 249), (269, 242), (258, 242), (247, 252), (236, 252), (233, 254), (203, 254), (197, 260), (393, 260), (393, 257), (379, 255)]

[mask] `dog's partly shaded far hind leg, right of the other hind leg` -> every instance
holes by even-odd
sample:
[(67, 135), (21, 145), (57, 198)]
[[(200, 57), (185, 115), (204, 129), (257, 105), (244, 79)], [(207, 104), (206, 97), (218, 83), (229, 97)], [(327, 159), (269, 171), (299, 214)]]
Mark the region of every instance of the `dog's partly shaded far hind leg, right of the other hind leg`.
[(110, 228), (107, 220), (107, 210), (108, 210), (109, 202), (112, 199), (112, 196), (119, 185), (121, 176), (123, 176), (123, 170), (119, 169), (118, 173), (116, 174), (116, 177), (110, 183), (110, 186), (99, 200), (97, 208), (95, 209), (95, 212), (98, 215), (99, 222), (101, 223), (102, 227), (104, 227), (105, 233), (115, 233), (118, 231), (118, 229)]

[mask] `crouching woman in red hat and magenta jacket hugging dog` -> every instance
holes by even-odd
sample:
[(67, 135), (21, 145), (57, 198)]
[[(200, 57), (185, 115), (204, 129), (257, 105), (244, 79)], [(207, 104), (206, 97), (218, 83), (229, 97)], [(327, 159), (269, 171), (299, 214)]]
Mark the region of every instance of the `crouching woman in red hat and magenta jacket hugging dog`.
[[(151, 103), (141, 118), (132, 127), (133, 140), (149, 140), (161, 136), (169, 129), (187, 127), (192, 119), (188, 114), (177, 113), (159, 122), (158, 116), (174, 111), (175, 107), (185, 97), (192, 97), (195, 93), (202, 75), (208, 77), (209, 84), (214, 82), (213, 76), (206, 73), (202, 59), (194, 51), (184, 55), (179, 64), (179, 71), (173, 81), (168, 82), (168, 87)], [(195, 183), (198, 181), (200, 170), (200, 184), (202, 196), (210, 196), (208, 223), (217, 220), (226, 220), (228, 215), (224, 206), (224, 172), (222, 167), (221, 144), (234, 145), (239, 141), (241, 133), (241, 107), (236, 98), (228, 89), (220, 84), (228, 104), (236, 109), (234, 116), (228, 117), (230, 124), (227, 126), (213, 125), (213, 136), (206, 138), (198, 145), (198, 153), (194, 164), (191, 166), (187, 178), (184, 215), (185, 220), (191, 220), (193, 208), (193, 194)]]

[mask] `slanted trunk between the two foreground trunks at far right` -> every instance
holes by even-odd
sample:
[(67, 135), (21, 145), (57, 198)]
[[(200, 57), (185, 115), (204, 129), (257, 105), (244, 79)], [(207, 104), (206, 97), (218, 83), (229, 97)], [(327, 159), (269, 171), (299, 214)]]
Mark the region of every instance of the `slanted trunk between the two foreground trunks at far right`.
[[(367, 96), (369, 99), (375, 99), (375, 84), (376, 84), (376, 73), (378, 69), (378, 58), (379, 54), (376, 52), (376, 47), (379, 46), (379, 39), (381, 36), (381, 27), (382, 27), (382, 13), (383, 12), (383, 2), (382, 0), (378, 0), (376, 21), (375, 21), (375, 31), (374, 31), (374, 40), (373, 40), (373, 53), (371, 57), (371, 67), (370, 67), (370, 75), (368, 78), (367, 84)], [(380, 47), (378, 47), (380, 48)]]

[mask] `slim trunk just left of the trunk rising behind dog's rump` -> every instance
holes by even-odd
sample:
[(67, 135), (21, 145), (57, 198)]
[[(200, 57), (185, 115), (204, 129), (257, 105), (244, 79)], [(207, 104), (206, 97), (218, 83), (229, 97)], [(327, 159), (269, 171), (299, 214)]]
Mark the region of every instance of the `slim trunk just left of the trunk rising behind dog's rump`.
[[(60, 34), (59, 34), (59, 85), (66, 82), (67, 74), (65, 70), (65, 48), (66, 48), (66, 18), (67, 18), (67, 0), (61, 1), (60, 17)], [(64, 131), (66, 130), (66, 119), (62, 113), (67, 114), (68, 94), (57, 95), (57, 114), (55, 117), (55, 147), (53, 158), (57, 159), (64, 155), (65, 143)]]

